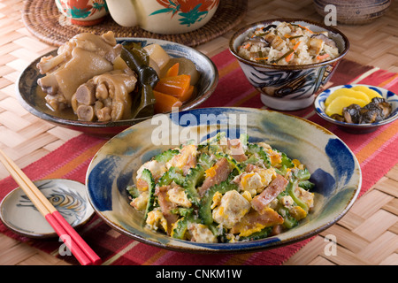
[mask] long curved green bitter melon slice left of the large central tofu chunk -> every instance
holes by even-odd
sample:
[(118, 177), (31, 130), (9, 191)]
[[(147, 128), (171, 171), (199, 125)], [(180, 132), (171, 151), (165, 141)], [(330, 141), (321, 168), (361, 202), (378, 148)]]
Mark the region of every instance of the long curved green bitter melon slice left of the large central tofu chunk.
[(214, 185), (210, 187), (206, 193), (203, 195), (201, 203), (199, 205), (199, 218), (202, 220), (204, 225), (210, 226), (213, 223), (213, 216), (211, 214), (211, 203), (213, 201), (213, 196), (217, 192), (224, 195), (228, 191), (238, 190), (239, 187), (235, 183), (232, 183), (231, 180), (233, 177), (238, 175), (236, 170), (233, 170), (231, 174), (228, 176), (228, 179), (219, 183), (218, 185)]

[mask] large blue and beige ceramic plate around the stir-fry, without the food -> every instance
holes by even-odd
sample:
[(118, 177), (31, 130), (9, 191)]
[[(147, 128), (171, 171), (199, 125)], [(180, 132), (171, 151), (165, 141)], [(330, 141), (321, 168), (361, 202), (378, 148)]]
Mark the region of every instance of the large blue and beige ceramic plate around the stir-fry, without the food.
[[(247, 126), (245, 126), (247, 125)], [(198, 243), (172, 239), (142, 226), (143, 214), (129, 205), (126, 186), (150, 157), (180, 142), (202, 142), (218, 132), (249, 142), (264, 141), (306, 164), (316, 184), (315, 207), (295, 228), (257, 241)], [(172, 145), (169, 145), (172, 142)], [(164, 249), (187, 252), (242, 252), (272, 249), (302, 241), (339, 220), (355, 202), (361, 169), (344, 142), (306, 119), (277, 111), (249, 108), (205, 108), (158, 115), (113, 137), (89, 164), (88, 200), (96, 213), (120, 233)]]

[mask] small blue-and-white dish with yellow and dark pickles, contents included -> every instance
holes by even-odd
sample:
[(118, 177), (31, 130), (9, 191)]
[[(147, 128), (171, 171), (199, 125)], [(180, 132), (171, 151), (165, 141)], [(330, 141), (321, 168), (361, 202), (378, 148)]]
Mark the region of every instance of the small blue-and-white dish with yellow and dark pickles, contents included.
[(366, 134), (398, 119), (398, 96), (386, 88), (348, 84), (320, 93), (314, 108), (321, 118), (342, 130)]

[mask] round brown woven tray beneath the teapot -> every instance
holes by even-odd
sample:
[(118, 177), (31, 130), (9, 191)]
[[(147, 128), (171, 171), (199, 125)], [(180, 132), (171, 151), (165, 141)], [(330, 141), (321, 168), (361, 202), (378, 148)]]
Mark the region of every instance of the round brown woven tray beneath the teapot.
[(103, 34), (109, 30), (116, 37), (148, 37), (178, 42), (191, 47), (226, 34), (244, 18), (247, 0), (222, 0), (213, 18), (203, 27), (186, 34), (153, 34), (140, 27), (121, 27), (108, 15), (101, 24), (80, 27), (70, 24), (58, 10), (54, 0), (25, 1), (22, 19), (27, 29), (42, 42), (60, 46), (76, 34)]

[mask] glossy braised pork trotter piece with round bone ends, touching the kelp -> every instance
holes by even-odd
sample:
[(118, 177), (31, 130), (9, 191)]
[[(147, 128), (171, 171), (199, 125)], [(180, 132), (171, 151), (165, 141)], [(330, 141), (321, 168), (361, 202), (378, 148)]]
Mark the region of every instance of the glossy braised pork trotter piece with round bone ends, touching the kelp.
[(72, 97), (73, 111), (84, 121), (117, 121), (131, 116), (137, 79), (130, 69), (113, 70), (80, 85)]

